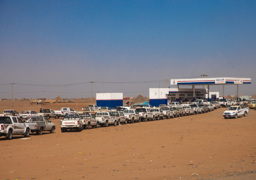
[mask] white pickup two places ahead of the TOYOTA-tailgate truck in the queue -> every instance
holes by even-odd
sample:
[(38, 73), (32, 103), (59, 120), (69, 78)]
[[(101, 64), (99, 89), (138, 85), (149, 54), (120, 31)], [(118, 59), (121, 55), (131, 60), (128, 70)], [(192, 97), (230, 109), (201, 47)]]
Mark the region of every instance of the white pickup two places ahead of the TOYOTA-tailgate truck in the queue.
[(109, 124), (117, 125), (116, 117), (114, 117), (112, 112), (97, 112), (95, 119), (99, 121), (101, 127), (107, 127)]

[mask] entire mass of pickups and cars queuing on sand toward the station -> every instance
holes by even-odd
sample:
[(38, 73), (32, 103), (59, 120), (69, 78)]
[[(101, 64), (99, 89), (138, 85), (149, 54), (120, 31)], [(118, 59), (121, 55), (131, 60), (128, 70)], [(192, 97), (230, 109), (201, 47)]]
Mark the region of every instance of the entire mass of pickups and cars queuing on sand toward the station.
[[(226, 102), (226, 101), (222, 101)], [(230, 101), (231, 102), (231, 101)], [(226, 106), (224, 103), (223, 106)], [(224, 113), (225, 119), (237, 118), (240, 115), (246, 116), (249, 108), (256, 110), (256, 101), (248, 103), (248, 107), (241, 108), (240, 106), (230, 106)], [(42, 113), (35, 111), (23, 111), (21, 114), (15, 110), (4, 110), (0, 114), (0, 136), (6, 136), (7, 139), (12, 139), (13, 135), (23, 134), (29, 137), (30, 133), (36, 132), (38, 135), (43, 134), (43, 131), (54, 133), (55, 124), (49, 121), (50, 117), (61, 117), (60, 129), (61, 132), (67, 130), (76, 130), (78, 132), (83, 129), (90, 129), (90, 127), (98, 128), (99, 126), (119, 125), (135, 121), (159, 120), (165, 118), (174, 118), (184, 115), (194, 115), (199, 113), (206, 113), (220, 108), (221, 103), (218, 101), (205, 102), (195, 101), (191, 102), (175, 102), (169, 105), (160, 104), (159, 107), (152, 107), (151, 105), (135, 108), (134, 106), (116, 107), (114, 110), (109, 107), (98, 109), (98, 107), (82, 108), (81, 112), (74, 111), (71, 108), (61, 108), (60, 111), (53, 111), (51, 109), (43, 110)], [(26, 119), (26, 121), (25, 121)]]

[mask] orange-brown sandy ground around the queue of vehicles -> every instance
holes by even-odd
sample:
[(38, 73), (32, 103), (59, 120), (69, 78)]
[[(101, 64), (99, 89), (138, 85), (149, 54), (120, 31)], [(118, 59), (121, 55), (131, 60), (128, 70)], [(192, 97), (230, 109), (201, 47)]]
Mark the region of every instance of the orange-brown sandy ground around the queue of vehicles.
[[(1, 112), (85, 106), (8, 103)], [(0, 179), (256, 179), (256, 111), (226, 120), (224, 110), (63, 133), (51, 118), (54, 134), (0, 137)]]

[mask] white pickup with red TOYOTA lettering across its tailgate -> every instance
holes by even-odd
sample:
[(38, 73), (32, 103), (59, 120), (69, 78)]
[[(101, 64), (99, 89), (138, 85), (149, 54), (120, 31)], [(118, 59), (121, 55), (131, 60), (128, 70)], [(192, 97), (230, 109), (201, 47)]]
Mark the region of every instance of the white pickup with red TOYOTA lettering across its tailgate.
[(83, 130), (83, 123), (80, 116), (78, 114), (66, 114), (60, 120), (60, 129), (61, 132), (65, 132), (68, 129), (75, 129), (78, 132), (81, 132)]

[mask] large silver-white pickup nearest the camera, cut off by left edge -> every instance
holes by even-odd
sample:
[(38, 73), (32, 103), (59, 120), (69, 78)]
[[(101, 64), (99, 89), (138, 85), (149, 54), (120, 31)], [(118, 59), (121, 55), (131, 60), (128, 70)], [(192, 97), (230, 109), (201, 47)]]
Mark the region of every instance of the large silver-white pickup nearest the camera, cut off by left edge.
[(6, 136), (11, 140), (13, 135), (24, 135), (29, 137), (30, 127), (19, 117), (2, 116), (0, 117), (0, 136)]

